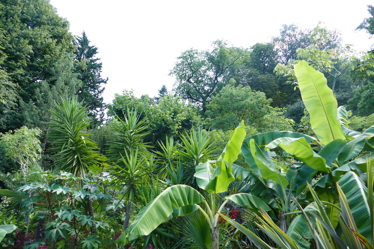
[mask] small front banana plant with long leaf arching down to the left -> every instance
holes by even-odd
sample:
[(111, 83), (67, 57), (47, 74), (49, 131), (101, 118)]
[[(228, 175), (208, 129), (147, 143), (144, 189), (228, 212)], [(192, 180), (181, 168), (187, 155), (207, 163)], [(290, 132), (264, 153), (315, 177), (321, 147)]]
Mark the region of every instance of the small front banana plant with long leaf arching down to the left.
[[(126, 243), (138, 236), (150, 234), (163, 222), (175, 216), (184, 216), (199, 210), (209, 224), (212, 248), (218, 249), (219, 214), (227, 201), (232, 200), (240, 206), (247, 206), (250, 210), (270, 210), (270, 207), (259, 197), (252, 194), (239, 193), (225, 197), (225, 201), (217, 207), (217, 194), (226, 192), (229, 184), (235, 179), (232, 163), (240, 153), (240, 147), (245, 138), (244, 123), (231, 133), (221, 156), (217, 161), (208, 161), (196, 166), (197, 185), (205, 193), (200, 194), (188, 185), (174, 185), (166, 188), (154, 198), (140, 212), (126, 231), (117, 239), (117, 243)], [(203, 205), (199, 205), (203, 203)]]

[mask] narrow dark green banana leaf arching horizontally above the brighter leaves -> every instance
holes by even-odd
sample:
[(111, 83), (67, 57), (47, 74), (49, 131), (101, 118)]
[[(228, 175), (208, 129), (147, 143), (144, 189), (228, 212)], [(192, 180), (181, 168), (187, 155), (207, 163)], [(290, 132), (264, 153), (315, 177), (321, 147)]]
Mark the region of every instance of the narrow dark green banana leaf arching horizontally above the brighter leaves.
[(243, 144), (245, 144), (249, 148), (249, 141), (251, 139), (254, 139), (258, 146), (263, 146), (263, 145), (269, 144), (270, 142), (274, 141), (277, 138), (305, 138), (306, 141), (308, 142), (317, 140), (316, 138), (313, 138), (312, 136), (308, 136), (302, 133), (281, 130), (281, 131), (258, 133), (256, 135), (249, 136), (248, 138), (244, 139)]

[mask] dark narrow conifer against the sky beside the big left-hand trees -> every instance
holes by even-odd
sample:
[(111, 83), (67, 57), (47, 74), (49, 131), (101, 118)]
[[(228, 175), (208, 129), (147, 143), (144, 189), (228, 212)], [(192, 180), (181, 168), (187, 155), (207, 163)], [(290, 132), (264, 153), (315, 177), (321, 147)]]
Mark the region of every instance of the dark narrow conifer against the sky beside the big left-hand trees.
[(90, 42), (85, 31), (81, 37), (76, 36), (74, 40), (74, 44), (77, 45), (74, 58), (77, 62), (76, 73), (79, 73), (78, 79), (82, 81), (78, 97), (83, 105), (87, 105), (91, 116), (97, 121), (96, 124), (100, 124), (107, 108), (101, 96), (105, 89), (102, 85), (107, 83), (108, 78), (102, 78), (102, 63), (96, 58), (98, 48), (91, 46)]

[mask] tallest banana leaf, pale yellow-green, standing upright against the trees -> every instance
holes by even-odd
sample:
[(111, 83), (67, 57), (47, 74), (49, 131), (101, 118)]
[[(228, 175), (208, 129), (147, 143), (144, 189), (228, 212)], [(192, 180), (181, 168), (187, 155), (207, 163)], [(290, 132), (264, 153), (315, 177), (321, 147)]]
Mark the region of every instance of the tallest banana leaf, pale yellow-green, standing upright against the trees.
[(338, 103), (327, 86), (324, 74), (310, 67), (306, 61), (295, 65), (301, 98), (310, 114), (310, 124), (319, 141), (326, 145), (335, 139), (345, 139), (337, 120)]

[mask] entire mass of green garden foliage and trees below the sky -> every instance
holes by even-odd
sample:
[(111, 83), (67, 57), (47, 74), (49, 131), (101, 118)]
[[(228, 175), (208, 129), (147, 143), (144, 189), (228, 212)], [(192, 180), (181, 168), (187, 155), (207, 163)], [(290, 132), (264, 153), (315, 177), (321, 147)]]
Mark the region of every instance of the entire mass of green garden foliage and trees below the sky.
[(374, 248), (373, 53), (283, 25), (107, 105), (68, 28), (47, 0), (0, 0), (0, 248)]

